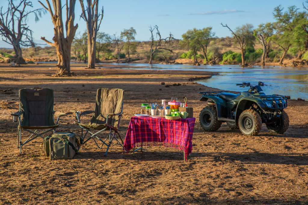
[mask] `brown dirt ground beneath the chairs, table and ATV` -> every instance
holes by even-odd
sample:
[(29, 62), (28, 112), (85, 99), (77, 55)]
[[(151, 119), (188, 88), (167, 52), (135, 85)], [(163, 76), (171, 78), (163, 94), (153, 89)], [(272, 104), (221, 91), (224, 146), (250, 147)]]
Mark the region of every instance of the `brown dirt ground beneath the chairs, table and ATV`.
[[(271, 134), (263, 125), (258, 136), (244, 136), (225, 123), (216, 132), (204, 132), (198, 117), (205, 104), (198, 92), (218, 89), (187, 79), (212, 73), (82, 66), (72, 64), (76, 77), (57, 78), (51, 77), (51, 63), (0, 65), (0, 204), (308, 203), (308, 102), (288, 101), (290, 128), (284, 135)], [(33, 87), (54, 89), (54, 110), (62, 112), (93, 110), (98, 88), (124, 89), (123, 138), (141, 103), (187, 97), (196, 117), (193, 152), (184, 161), (180, 150), (152, 146), (133, 157), (113, 143), (104, 157), (105, 148), (89, 141), (73, 160), (51, 161), (36, 139), (19, 155), (18, 124), (10, 113), (18, 111), (18, 89)], [(58, 131), (80, 134), (74, 120), (62, 117)]]

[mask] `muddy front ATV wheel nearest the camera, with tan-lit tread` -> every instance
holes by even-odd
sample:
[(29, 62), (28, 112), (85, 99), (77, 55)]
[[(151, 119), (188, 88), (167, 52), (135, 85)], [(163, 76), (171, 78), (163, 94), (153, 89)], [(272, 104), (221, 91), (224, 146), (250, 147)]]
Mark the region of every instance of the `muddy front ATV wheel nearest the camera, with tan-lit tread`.
[(256, 111), (253, 109), (244, 110), (239, 119), (238, 126), (244, 135), (257, 135), (262, 126), (262, 120)]

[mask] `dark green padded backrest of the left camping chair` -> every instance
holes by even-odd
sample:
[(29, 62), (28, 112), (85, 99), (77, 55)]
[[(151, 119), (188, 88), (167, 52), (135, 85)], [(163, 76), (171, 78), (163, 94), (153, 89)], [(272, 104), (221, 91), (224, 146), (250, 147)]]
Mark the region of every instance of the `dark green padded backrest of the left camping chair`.
[(19, 110), (22, 112), (22, 126), (55, 125), (54, 91), (48, 88), (19, 90)]

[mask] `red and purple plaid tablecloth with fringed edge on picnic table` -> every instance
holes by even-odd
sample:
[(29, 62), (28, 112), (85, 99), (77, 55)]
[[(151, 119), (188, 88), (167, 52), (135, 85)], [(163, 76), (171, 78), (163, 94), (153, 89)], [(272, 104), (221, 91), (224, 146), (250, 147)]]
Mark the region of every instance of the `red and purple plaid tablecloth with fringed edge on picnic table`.
[(196, 118), (167, 120), (165, 118), (132, 117), (126, 133), (123, 151), (135, 147), (160, 145), (192, 152), (193, 128)]

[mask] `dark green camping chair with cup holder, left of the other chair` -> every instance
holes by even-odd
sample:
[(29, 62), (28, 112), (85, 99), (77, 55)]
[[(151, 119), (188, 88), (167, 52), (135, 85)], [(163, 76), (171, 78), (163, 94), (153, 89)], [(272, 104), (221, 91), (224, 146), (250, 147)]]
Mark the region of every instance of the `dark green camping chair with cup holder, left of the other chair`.
[[(19, 120), (17, 148), (19, 148), (21, 154), (23, 145), (37, 137), (44, 139), (43, 134), (47, 132), (53, 131), (55, 133), (59, 125), (59, 118), (67, 114), (54, 111), (54, 91), (52, 89), (32, 88), (19, 90), (19, 111), (11, 115), (14, 122), (17, 122), (17, 118)], [(58, 117), (56, 123), (54, 122), (54, 116)], [(48, 130), (42, 133), (38, 131), (45, 129)], [(24, 143), (21, 141), (22, 130), (31, 133)]]

